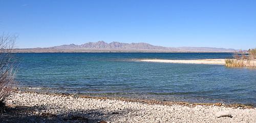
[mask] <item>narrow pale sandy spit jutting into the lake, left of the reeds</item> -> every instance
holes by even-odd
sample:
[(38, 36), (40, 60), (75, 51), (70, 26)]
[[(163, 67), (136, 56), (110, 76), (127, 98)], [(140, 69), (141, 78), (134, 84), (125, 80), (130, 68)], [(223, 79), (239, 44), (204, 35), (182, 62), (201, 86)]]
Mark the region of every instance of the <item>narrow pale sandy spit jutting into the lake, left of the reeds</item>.
[(196, 59), (196, 60), (141, 59), (140, 61), (156, 62), (156, 63), (181, 63), (181, 64), (214, 64), (214, 65), (225, 65), (225, 59)]

